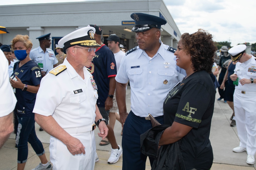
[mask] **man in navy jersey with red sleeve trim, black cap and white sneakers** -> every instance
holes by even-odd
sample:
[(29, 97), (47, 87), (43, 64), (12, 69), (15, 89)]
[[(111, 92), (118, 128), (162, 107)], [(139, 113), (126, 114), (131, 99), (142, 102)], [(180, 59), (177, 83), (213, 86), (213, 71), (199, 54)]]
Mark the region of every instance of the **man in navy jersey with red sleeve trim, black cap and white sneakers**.
[[(115, 92), (115, 76), (117, 74), (115, 57), (112, 51), (101, 42), (101, 33), (102, 29), (97, 25), (88, 25), (95, 28), (94, 38), (96, 43), (100, 44), (100, 47), (97, 47), (95, 51), (95, 57), (92, 59), (92, 65), (90, 67), (91, 74), (93, 79), (98, 87), (98, 100), (97, 106), (100, 110), (100, 113), (104, 119), (106, 119), (107, 127), (109, 128), (108, 132), (108, 141), (101, 140), (100, 145), (111, 144), (111, 155), (108, 159), (108, 163), (116, 163), (121, 154), (123, 153), (121, 146), (117, 145), (114, 131), (109, 126), (109, 110), (113, 106), (113, 97)], [(96, 156), (97, 159), (97, 156)], [(97, 160), (96, 160), (97, 161)]]

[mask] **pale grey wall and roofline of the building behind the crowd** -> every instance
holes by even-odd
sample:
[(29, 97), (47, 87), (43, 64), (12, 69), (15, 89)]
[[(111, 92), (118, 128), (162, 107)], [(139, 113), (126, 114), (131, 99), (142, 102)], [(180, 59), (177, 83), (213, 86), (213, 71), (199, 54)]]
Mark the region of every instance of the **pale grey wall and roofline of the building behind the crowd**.
[(161, 12), (167, 20), (167, 24), (162, 25), (161, 40), (171, 46), (175, 44), (173, 41), (180, 39), (181, 34), (162, 0), (120, 0), (0, 6), (1, 26), (10, 32), (0, 34), (0, 42), (9, 44), (16, 34), (27, 34), (36, 48), (39, 46), (35, 39), (38, 36), (51, 33), (51, 37), (63, 37), (80, 27), (96, 24), (102, 28), (103, 35), (115, 33), (120, 38), (125, 35), (122, 38), (127, 40), (129, 48), (133, 48), (135, 33), (123, 30), (131, 29), (133, 25), (121, 24), (122, 21), (133, 21), (130, 17), (133, 12), (155, 16)]

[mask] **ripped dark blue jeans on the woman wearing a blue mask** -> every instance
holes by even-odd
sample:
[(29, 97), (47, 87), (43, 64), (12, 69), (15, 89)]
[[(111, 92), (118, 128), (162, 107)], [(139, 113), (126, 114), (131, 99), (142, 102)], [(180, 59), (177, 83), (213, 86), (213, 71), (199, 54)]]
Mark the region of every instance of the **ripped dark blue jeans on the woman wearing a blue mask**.
[(38, 156), (45, 153), (41, 141), (36, 136), (35, 131), (35, 114), (32, 113), (29, 117), (18, 116), (18, 131), (16, 144), (18, 146), (18, 163), (27, 162), (28, 158), (28, 142)]

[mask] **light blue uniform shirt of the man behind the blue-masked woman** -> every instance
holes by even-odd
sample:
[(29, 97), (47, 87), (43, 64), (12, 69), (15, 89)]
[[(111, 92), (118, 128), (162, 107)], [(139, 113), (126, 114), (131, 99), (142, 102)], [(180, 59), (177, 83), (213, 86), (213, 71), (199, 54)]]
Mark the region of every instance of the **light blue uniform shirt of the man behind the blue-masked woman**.
[(44, 53), (40, 46), (31, 50), (29, 57), (38, 64), (38, 66), (41, 68), (41, 71), (47, 71), (47, 73), (53, 69), (54, 64), (58, 63), (54, 51), (46, 48)]

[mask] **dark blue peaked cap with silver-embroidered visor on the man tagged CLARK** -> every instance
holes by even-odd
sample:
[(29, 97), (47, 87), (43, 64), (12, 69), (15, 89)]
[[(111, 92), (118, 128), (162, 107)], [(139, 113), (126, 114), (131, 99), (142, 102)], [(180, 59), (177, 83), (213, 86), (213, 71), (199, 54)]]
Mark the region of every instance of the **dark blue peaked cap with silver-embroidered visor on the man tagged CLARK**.
[(131, 18), (135, 21), (132, 32), (143, 32), (152, 28), (161, 29), (161, 25), (167, 23), (163, 18), (144, 13), (133, 13)]

